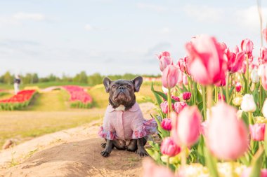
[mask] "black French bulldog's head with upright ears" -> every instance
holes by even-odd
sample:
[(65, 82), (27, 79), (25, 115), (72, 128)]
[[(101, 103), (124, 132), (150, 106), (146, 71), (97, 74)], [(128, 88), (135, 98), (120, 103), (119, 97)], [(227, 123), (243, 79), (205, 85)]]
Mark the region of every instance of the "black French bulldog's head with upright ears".
[(133, 80), (110, 80), (104, 78), (103, 84), (105, 85), (105, 91), (110, 94), (110, 104), (113, 108), (117, 108), (120, 105), (125, 106), (125, 110), (131, 108), (136, 102), (136, 96), (134, 92), (139, 92), (143, 78), (138, 76)]

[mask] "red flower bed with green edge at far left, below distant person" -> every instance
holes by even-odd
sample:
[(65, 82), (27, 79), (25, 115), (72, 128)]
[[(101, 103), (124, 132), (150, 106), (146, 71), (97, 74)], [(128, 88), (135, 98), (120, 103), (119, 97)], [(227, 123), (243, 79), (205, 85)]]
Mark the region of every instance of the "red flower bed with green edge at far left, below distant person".
[(13, 111), (24, 108), (30, 104), (36, 90), (22, 90), (9, 99), (0, 100), (0, 110)]

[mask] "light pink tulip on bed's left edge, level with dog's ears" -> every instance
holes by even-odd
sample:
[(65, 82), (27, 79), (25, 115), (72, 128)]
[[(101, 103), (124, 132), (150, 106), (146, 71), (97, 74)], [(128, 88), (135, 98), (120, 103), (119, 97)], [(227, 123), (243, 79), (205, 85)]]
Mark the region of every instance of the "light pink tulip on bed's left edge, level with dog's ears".
[(178, 68), (174, 65), (168, 65), (162, 73), (162, 85), (168, 89), (174, 87), (178, 81)]

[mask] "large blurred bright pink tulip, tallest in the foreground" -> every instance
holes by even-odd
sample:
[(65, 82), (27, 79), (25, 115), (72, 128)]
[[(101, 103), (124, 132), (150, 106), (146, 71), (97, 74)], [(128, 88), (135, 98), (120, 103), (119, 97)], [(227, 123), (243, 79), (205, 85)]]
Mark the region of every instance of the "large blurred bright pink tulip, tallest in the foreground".
[(188, 69), (197, 83), (211, 85), (226, 77), (224, 50), (214, 37), (197, 36), (185, 45), (190, 60)]

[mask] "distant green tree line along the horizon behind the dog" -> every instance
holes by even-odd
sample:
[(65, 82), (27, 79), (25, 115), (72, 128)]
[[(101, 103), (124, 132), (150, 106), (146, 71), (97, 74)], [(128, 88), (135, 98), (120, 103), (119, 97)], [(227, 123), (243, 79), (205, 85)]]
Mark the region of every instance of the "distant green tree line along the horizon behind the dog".
[[(132, 73), (125, 73), (123, 75), (108, 75), (108, 78), (111, 80), (117, 80), (120, 78), (124, 79), (133, 79), (136, 76), (140, 76)], [(143, 77), (159, 77), (159, 75), (142, 75)], [(87, 75), (85, 71), (81, 71), (77, 73), (75, 76), (67, 76), (63, 74), (63, 76), (58, 77), (53, 75), (52, 73), (45, 77), (39, 77), (37, 73), (26, 73), (24, 75), (20, 75), (20, 80), (23, 84), (34, 84), (34, 83), (48, 83), (48, 82), (61, 82), (61, 83), (84, 83), (88, 85), (97, 85), (103, 82), (103, 78), (106, 76), (101, 75), (100, 73), (93, 73), (91, 75)], [(11, 85), (13, 84), (13, 80), (15, 75), (9, 71), (6, 71), (2, 76), (0, 76), (0, 83)]]

